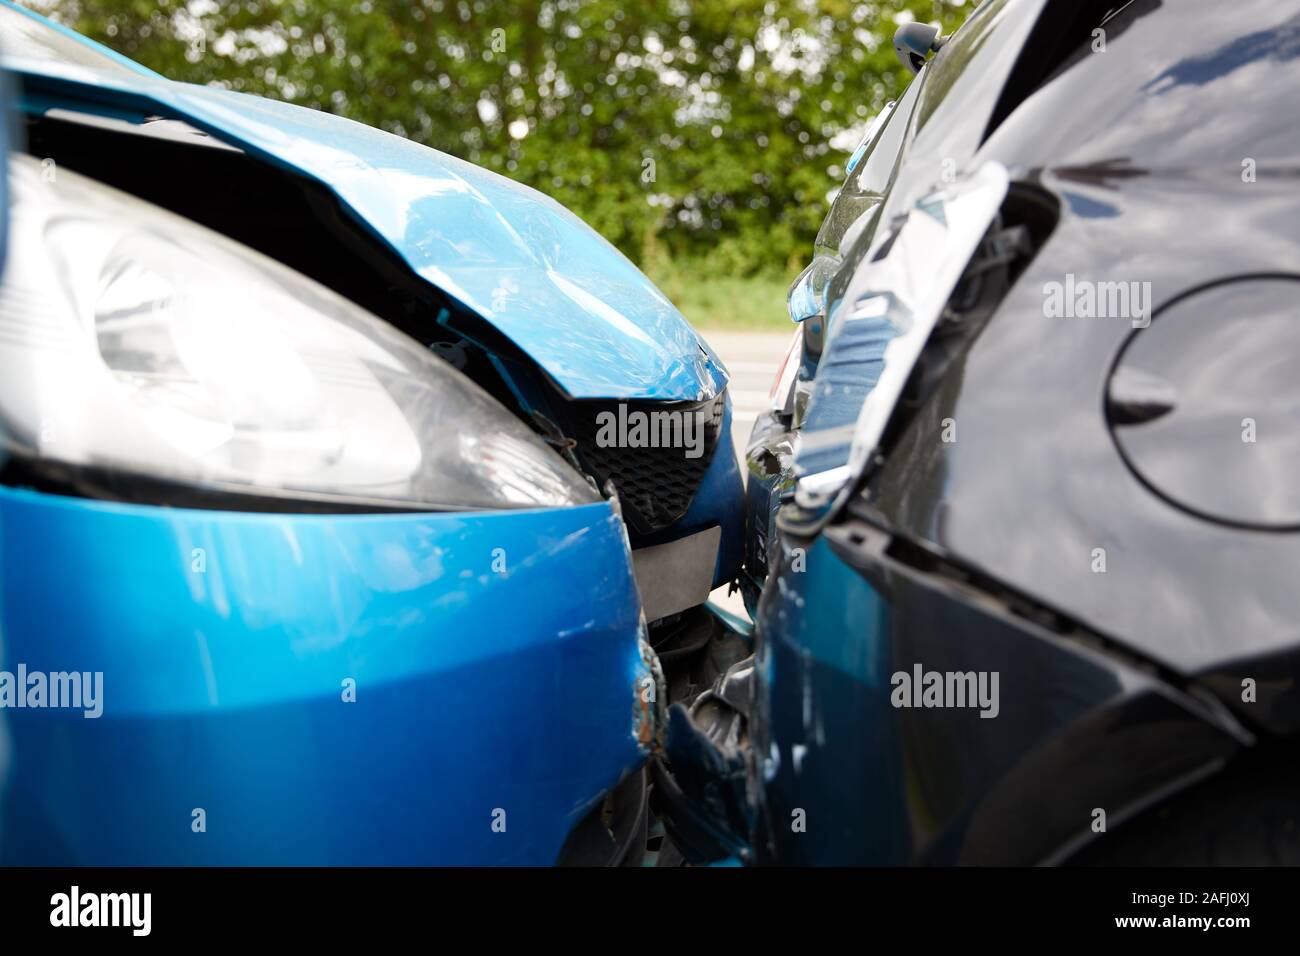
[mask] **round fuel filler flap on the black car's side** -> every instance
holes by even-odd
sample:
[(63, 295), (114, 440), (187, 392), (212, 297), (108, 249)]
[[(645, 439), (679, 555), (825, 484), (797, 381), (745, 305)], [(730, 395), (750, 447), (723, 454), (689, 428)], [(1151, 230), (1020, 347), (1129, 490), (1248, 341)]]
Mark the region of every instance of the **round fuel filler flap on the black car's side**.
[[(1209, 520), (1300, 528), (1297, 304), (1297, 277), (1239, 278), (1183, 295), (1131, 336), (1108, 412), (1152, 490)], [(1117, 418), (1117, 384), (1135, 378), (1161, 397)]]

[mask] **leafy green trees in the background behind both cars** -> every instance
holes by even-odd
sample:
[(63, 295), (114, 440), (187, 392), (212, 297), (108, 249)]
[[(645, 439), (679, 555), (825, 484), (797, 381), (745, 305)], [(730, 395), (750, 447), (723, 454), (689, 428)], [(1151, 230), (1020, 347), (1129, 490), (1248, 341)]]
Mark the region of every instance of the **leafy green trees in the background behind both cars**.
[[(789, 272), (897, 22), (965, 0), (25, 0), (173, 79), (326, 109), (568, 206), (634, 261)], [(835, 146), (832, 146), (835, 140)]]

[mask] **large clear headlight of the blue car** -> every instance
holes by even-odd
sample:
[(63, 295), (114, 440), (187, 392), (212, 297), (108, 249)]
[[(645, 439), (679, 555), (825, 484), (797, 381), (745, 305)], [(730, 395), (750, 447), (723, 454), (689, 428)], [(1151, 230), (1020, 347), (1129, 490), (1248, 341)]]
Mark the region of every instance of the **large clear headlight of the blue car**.
[(0, 442), (326, 506), (560, 506), (593, 488), (455, 368), (188, 220), (13, 156)]

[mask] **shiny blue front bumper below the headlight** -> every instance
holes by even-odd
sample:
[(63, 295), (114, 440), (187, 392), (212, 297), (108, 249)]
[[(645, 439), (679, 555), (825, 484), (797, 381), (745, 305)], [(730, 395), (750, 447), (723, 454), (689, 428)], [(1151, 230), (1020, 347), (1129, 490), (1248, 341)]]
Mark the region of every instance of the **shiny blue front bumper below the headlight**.
[(0, 861), (554, 862), (644, 761), (640, 639), (604, 502), (263, 515), (0, 488), (3, 669), (103, 672), (98, 719), (0, 710)]

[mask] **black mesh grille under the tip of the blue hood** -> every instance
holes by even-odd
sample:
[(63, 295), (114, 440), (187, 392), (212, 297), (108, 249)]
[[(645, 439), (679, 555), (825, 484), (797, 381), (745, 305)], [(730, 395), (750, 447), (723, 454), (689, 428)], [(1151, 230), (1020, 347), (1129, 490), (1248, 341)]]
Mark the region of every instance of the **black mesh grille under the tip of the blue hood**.
[[(625, 410), (625, 419), (619, 418), (620, 407)], [(690, 507), (718, 447), (725, 407), (725, 393), (705, 402), (576, 402), (569, 406), (568, 433), (577, 442), (578, 460), (597, 483), (602, 488), (606, 481), (614, 483), (623, 516), (633, 531), (651, 535), (675, 524)], [(703, 450), (698, 458), (688, 458), (688, 449), (680, 444), (670, 447), (627, 447), (620, 442), (602, 446), (601, 425), (610, 420), (603, 414), (612, 415), (614, 421), (629, 423), (636, 421), (633, 414), (642, 414), (646, 416), (642, 420), (662, 427), (664, 419), (656, 418), (662, 412), (682, 416), (682, 423), (685, 416), (701, 416)], [(624, 436), (619, 433), (619, 437)]]

